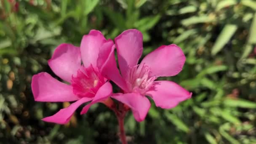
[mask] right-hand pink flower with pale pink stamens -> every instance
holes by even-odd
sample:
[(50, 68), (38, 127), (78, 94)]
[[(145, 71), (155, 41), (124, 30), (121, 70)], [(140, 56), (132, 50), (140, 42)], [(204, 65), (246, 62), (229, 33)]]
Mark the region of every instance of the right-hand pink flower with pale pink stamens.
[(145, 95), (151, 97), (157, 107), (164, 109), (176, 107), (192, 96), (172, 81), (154, 81), (157, 77), (174, 76), (181, 71), (186, 60), (181, 48), (174, 44), (162, 45), (138, 64), (143, 51), (142, 39), (141, 32), (136, 29), (126, 30), (115, 38), (121, 75), (113, 53), (101, 68), (102, 74), (123, 90), (112, 98), (128, 105), (139, 122), (145, 119), (151, 105)]

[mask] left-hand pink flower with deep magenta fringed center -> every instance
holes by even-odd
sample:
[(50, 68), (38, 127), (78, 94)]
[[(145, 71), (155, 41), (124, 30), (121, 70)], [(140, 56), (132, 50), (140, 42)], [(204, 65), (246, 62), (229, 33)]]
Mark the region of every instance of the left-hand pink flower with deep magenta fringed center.
[(92, 104), (109, 98), (112, 85), (101, 75), (100, 69), (114, 51), (113, 45), (113, 41), (106, 40), (101, 32), (91, 30), (83, 36), (80, 48), (71, 44), (61, 44), (56, 48), (48, 64), (57, 76), (69, 84), (61, 83), (47, 72), (34, 75), (32, 92), (35, 101), (75, 102), (55, 115), (43, 118), (44, 121), (68, 123), (81, 104), (91, 101), (83, 108), (81, 114), (84, 114)]

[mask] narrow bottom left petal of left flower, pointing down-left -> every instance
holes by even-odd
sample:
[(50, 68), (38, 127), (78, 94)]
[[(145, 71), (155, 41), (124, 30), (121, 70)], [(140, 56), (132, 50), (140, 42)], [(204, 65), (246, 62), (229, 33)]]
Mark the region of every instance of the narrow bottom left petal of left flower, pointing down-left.
[(87, 101), (91, 101), (92, 98), (82, 98), (78, 101), (72, 103), (69, 107), (59, 110), (55, 115), (50, 117), (45, 117), (42, 120), (45, 122), (58, 123), (58, 124), (66, 124), (69, 122), (75, 110), (83, 103)]

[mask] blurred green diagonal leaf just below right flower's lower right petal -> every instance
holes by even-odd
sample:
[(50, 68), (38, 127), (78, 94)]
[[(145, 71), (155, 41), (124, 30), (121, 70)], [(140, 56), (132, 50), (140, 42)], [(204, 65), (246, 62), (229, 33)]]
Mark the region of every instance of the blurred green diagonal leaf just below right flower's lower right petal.
[(170, 114), (167, 111), (165, 111), (165, 116), (169, 121), (171, 121), (174, 125), (176, 125), (176, 127), (179, 128), (181, 131), (184, 131), (186, 133), (189, 131), (188, 126), (176, 115)]

